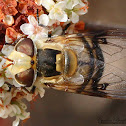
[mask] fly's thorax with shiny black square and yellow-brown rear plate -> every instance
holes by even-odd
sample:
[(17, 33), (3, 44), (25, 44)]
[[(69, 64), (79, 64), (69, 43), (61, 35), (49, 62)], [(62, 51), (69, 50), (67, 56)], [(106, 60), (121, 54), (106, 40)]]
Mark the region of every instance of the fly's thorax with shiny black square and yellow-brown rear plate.
[[(53, 45), (53, 46), (52, 46)], [(72, 77), (77, 70), (77, 55), (72, 49), (47, 44), (37, 50), (37, 75), (43, 82), (55, 82)]]

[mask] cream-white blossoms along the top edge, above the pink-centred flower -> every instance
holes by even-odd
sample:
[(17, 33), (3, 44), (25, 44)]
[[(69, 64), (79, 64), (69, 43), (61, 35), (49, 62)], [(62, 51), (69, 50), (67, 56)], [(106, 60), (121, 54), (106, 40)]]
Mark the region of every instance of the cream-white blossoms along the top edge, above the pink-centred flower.
[(44, 25), (67, 21), (77, 23), (79, 15), (86, 14), (88, 10), (87, 0), (57, 0), (56, 2), (53, 0), (36, 0), (36, 3), (44, 6), (48, 12), (48, 15), (46, 15), (47, 21)]

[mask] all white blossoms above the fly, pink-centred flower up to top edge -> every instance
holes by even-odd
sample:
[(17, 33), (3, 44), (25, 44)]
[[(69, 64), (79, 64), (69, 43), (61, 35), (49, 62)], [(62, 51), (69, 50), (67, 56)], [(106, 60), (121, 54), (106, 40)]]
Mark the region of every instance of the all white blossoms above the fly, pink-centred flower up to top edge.
[[(73, 31), (75, 24), (79, 22), (79, 15), (84, 15), (88, 11), (87, 0), (57, 0), (56, 2), (53, 0), (36, 0), (36, 4), (46, 8), (46, 12), (40, 14), (38, 21), (34, 16), (29, 16), (29, 23), (24, 23), (20, 27), (25, 35), (29, 37), (35, 35), (34, 39), (47, 37), (49, 31), (52, 31), (52, 36), (61, 35), (64, 26), (70, 22), (73, 23), (70, 27), (70, 30)], [(44, 27), (41, 27), (41, 25)], [(67, 31), (67, 33), (71, 32)]]

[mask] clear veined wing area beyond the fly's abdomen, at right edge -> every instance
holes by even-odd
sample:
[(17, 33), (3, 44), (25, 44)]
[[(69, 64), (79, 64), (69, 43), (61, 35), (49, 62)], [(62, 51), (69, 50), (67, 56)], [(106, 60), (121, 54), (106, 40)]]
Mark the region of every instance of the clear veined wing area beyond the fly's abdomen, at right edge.
[(107, 84), (104, 92), (109, 96), (126, 98), (126, 38), (106, 36), (106, 41), (107, 44), (100, 44), (105, 67), (99, 83)]

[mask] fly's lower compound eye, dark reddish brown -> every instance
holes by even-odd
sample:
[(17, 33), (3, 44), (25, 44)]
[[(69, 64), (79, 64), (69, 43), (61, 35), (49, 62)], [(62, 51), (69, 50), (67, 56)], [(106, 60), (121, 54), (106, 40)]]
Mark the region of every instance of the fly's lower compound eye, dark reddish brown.
[(26, 87), (30, 87), (34, 81), (34, 70), (32, 68), (15, 75), (16, 81)]

